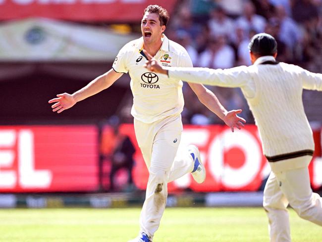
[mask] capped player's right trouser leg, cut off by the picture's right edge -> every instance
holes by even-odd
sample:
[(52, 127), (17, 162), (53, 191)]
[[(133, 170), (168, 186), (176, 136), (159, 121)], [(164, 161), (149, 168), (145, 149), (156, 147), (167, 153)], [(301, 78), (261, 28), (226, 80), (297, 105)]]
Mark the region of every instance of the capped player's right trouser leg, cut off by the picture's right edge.
[(277, 172), (276, 178), (281, 184), (280, 189), (297, 214), (322, 226), (322, 198), (312, 192), (308, 168)]

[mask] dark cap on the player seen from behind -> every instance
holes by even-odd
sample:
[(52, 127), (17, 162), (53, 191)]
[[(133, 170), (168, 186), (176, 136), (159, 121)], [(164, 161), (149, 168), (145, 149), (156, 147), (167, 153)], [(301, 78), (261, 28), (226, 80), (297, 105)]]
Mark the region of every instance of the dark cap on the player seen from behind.
[(277, 51), (277, 43), (273, 36), (260, 33), (253, 36), (248, 44), (248, 49), (254, 54), (271, 56)]

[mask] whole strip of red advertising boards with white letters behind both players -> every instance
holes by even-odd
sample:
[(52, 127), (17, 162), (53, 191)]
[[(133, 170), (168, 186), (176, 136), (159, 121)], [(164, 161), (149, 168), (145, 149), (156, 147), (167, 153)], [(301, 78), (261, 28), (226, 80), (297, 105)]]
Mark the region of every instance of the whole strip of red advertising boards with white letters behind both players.
[[(101, 128), (96, 125), (0, 126), (0, 192), (125, 191), (129, 183), (135, 189), (144, 190), (149, 174), (133, 124)], [(314, 131), (314, 138), (316, 150), (309, 170), (312, 187), (319, 189), (322, 185), (321, 129)], [(197, 184), (187, 174), (169, 183), (169, 192), (263, 190), (270, 169), (255, 125), (248, 124), (234, 133), (222, 125), (185, 125), (179, 154), (188, 144), (199, 146), (207, 170), (206, 181)], [(122, 159), (127, 153), (133, 160)]]

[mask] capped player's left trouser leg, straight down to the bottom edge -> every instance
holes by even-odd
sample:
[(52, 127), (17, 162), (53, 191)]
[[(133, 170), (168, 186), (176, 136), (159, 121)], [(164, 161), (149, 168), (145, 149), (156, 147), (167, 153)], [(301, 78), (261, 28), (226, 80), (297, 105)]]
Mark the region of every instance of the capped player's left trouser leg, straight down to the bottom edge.
[(263, 205), (268, 215), (270, 242), (290, 242), (288, 200), (282, 193), (273, 172), (270, 173), (264, 189)]

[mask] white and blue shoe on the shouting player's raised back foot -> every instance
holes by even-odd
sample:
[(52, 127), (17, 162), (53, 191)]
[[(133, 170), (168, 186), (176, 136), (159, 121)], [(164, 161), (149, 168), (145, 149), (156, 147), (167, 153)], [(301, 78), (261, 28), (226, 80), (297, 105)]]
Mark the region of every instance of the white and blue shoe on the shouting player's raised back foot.
[(200, 152), (196, 145), (188, 146), (189, 154), (194, 160), (194, 168), (191, 172), (193, 179), (198, 183), (203, 183), (206, 180), (206, 169), (200, 159)]

